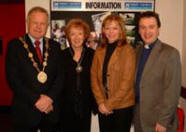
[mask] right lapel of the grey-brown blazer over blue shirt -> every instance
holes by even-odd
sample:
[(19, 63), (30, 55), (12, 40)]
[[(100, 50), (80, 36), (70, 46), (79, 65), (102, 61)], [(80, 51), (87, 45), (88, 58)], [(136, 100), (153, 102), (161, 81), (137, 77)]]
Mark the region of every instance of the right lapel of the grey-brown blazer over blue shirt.
[(154, 45), (148, 59), (147, 62), (145, 64), (144, 70), (143, 70), (143, 74), (142, 74), (142, 79), (144, 78), (144, 76), (146, 74), (148, 74), (148, 72), (150, 72), (152, 70), (153, 64), (156, 63), (157, 58), (159, 57), (159, 52), (161, 49), (161, 43), (158, 40), (156, 42), (156, 44)]

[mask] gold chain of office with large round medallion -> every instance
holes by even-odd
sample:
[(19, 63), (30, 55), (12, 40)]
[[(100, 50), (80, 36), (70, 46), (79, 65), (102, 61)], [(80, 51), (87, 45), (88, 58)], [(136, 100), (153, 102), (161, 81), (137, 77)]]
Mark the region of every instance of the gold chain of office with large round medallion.
[(23, 43), (23, 46), (24, 48), (26, 49), (26, 51), (28, 52), (28, 57), (30, 58), (30, 60), (32, 61), (33, 63), (33, 66), (36, 68), (36, 70), (38, 71), (38, 74), (37, 74), (37, 80), (40, 82), (40, 83), (45, 83), (47, 81), (47, 74), (46, 72), (44, 72), (46, 66), (47, 66), (47, 60), (48, 60), (48, 49), (49, 49), (49, 44), (48, 44), (48, 38), (45, 38), (45, 41), (46, 41), (46, 44), (45, 44), (45, 48), (46, 48), (46, 51), (44, 53), (44, 61), (42, 63), (43, 65), (43, 68), (42, 70), (39, 69), (38, 67), (38, 63), (34, 60), (33, 58), (33, 54), (32, 52), (29, 50), (28, 48), (28, 44), (24, 41), (24, 39), (22, 37), (19, 37), (19, 40)]

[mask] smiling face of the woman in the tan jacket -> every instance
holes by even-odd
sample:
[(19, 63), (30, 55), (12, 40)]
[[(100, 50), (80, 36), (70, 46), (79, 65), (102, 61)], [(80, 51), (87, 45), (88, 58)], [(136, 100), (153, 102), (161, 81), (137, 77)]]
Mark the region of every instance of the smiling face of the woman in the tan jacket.
[(121, 29), (116, 21), (108, 21), (105, 23), (105, 26), (103, 27), (103, 32), (108, 39), (109, 43), (113, 43), (117, 41), (121, 34)]

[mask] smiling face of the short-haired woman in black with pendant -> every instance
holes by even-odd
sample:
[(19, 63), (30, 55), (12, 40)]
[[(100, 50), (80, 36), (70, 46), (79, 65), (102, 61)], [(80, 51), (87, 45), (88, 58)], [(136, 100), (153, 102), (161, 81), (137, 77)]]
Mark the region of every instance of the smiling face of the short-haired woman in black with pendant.
[(69, 40), (72, 48), (82, 48), (85, 40), (84, 30), (72, 26), (69, 30)]

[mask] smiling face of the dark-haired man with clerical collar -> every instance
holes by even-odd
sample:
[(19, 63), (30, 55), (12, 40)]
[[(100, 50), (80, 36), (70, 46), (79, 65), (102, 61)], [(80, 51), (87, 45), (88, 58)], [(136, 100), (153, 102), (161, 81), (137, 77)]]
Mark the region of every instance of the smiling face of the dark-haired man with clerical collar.
[(159, 36), (159, 27), (154, 17), (144, 17), (139, 21), (139, 34), (145, 44), (153, 43)]

